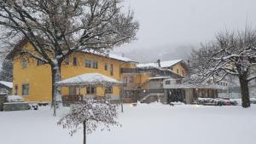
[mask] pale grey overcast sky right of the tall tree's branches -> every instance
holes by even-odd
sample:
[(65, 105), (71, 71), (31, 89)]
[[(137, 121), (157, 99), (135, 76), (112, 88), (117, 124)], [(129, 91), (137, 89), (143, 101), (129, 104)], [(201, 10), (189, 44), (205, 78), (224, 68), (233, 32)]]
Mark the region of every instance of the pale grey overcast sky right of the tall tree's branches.
[(185, 59), (224, 29), (256, 27), (256, 0), (125, 0), (140, 23), (137, 41), (114, 49), (138, 61)]

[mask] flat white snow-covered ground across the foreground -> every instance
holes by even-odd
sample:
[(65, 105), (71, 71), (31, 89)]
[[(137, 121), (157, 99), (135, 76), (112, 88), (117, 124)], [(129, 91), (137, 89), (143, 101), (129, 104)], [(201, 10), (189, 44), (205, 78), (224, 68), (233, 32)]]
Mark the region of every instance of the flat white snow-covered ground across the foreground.
[[(67, 108), (59, 109), (67, 112)], [(56, 124), (49, 107), (38, 111), (0, 112), (0, 143), (76, 144), (73, 136)], [(88, 144), (253, 144), (256, 143), (256, 106), (205, 107), (161, 104), (125, 105), (119, 114), (121, 128), (96, 131)]]

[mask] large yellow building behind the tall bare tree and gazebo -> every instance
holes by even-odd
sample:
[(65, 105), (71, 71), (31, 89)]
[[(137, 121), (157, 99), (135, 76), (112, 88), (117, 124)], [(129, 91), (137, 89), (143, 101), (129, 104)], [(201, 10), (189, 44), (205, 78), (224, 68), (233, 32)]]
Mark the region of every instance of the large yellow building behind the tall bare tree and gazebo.
[[(20, 49), (32, 50), (32, 44), (20, 42), (10, 52), (8, 59), (14, 60), (13, 95), (22, 95), (25, 101), (51, 101), (51, 71), (48, 64), (30, 56), (20, 55)], [(83, 51), (70, 55), (61, 65), (61, 79), (72, 78), (84, 73), (100, 73), (109, 78), (122, 81), (120, 69), (136, 67), (136, 62), (119, 55), (99, 55)], [(119, 97), (117, 86), (108, 88), (108, 95)], [(104, 95), (102, 87), (91, 85), (85, 88), (68, 87), (61, 89), (61, 95)]]

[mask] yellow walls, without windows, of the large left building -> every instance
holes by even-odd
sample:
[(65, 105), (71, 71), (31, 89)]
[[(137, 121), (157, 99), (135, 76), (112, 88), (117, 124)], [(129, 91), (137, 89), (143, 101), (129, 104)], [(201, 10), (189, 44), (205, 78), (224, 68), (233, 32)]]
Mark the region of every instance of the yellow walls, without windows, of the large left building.
[[(32, 45), (27, 43), (23, 49), (32, 49)], [(77, 57), (78, 66), (73, 66), (73, 57)], [(21, 67), (21, 59), (28, 60), (27, 68)], [(98, 68), (88, 68), (84, 66), (85, 59), (96, 60)], [(105, 63), (108, 63), (108, 70), (104, 70)], [(110, 64), (113, 64), (113, 76), (110, 75)], [(69, 58), (69, 65), (65, 65), (64, 61), (61, 65), (61, 78), (71, 78), (84, 73), (98, 72), (110, 78), (122, 81), (120, 67), (134, 66), (133, 63), (126, 64), (120, 60), (113, 60), (108, 57), (99, 55), (91, 55), (85, 53), (73, 53)], [(25, 101), (51, 101), (51, 74), (49, 65), (37, 66), (37, 60), (31, 57), (16, 55), (14, 58), (14, 88), (18, 85), (18, 94), (21, 95), (21, 85), (30, 84), (29, 95), (25, 95)], [(15, 90), (13, 90), (15, 91)], [(85, 93), (85, 88), (82, 89)], [(68, 95), (68, 88), (62, 88), (61, 94)], [(102, 87), (97, 88), (97, 95), (103, 95)], [(113, 87), (113, 95), (119, 95), (119, 88)]]

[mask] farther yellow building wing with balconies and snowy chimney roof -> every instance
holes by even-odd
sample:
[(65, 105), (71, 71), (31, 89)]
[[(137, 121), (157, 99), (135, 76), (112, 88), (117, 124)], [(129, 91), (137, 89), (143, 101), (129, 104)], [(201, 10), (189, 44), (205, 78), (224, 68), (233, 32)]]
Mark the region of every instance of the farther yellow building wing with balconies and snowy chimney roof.
[(142, 100), (147, 95), (164, 95), (164, 79), (188, 76), (183, 60), (168, 60), (137, 64), (136, 68), (122, 68), (124, 98), (126, 102)]

